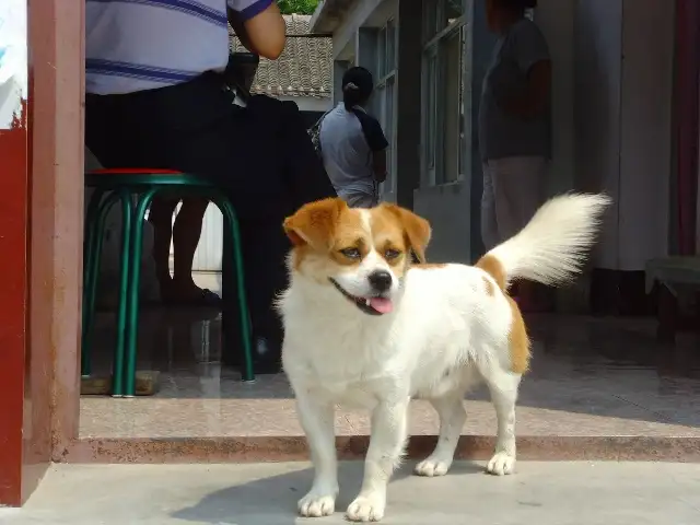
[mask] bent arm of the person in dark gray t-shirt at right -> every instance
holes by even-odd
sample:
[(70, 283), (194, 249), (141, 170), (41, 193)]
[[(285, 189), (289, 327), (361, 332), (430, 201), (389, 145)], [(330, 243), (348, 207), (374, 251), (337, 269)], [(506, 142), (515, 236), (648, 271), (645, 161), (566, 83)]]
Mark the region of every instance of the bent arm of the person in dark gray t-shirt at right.
[(547, 40), (534, 24), (526, 23), (512, 35), (510, 45), (526, 83), (520, 93), (504, 97), (500, 104), (511, 115), (533, 118), (549, 105), (551, 96), (551, 60)]

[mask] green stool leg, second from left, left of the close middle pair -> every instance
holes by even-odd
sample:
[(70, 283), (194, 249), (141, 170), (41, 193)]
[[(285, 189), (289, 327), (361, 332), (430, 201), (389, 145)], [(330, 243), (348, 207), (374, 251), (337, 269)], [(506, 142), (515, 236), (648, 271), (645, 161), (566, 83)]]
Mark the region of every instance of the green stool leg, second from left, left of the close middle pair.
[(127, 312), (129, 289), (129, 266), (131, 264), (131, 235), (133, 206), (131, 191), (128, 188), (119, 190), (121, 201), (121, 261), (119, 266), (119, 303), (117, 310), (117, 342), (114, 349), (114, 369), (112, 380), (112, 395), (124, 395), (124, 354), (127, 338)]

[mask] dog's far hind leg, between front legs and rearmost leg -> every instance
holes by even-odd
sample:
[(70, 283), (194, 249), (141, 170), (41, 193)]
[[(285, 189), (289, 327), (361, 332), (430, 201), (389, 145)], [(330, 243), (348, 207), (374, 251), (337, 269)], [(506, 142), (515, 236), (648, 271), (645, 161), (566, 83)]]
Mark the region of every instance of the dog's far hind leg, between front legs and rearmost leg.
[(467, 419), (463, 398), (464, 395), (459, 392), (431, 399), (430, 402), (440, 416), (440, 436), (433, 453), (416, 466), (418, 476), (444, 476), (450, 470)]

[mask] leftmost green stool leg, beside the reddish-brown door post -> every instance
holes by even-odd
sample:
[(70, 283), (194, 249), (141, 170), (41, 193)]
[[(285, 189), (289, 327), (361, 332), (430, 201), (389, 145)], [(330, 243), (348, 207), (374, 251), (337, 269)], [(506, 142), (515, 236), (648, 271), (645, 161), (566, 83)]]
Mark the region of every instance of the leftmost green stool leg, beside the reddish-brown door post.
[(97, 232), (97, 211), (100, 210), (100, 202), (104, 196), (102, 189), (95, 189), (88, 205), (88, 212), (85, 213), (85, 228), (83, 234), (83, 301), (82, 301), (82, 336), (80, 347), (80, 370), (81, 375), (89, 376), (92, 373), (91, 353), (88, 351), (88, 334), (92, 328), (93, 313), (88, 307), (88, 298), (90, 296), (92, 282), (92, 272), (94, 271), (94, 252), (96, 243)]

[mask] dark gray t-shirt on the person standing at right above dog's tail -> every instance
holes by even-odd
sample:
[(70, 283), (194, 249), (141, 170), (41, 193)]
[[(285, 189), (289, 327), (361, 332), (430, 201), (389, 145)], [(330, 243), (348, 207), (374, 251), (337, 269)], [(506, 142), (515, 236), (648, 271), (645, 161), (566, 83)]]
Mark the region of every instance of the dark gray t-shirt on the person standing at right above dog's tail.
[(549, 60), (547, 40), (537, 25), (523, 19), (502, 35), (483, 79), (479, 107), (479, 150), (481, 160), (509, 156), (551, 155), (551, 109), (524, 119), (499, 106), (498, 101), (517, 96), (527, 86), (530, 68)]

